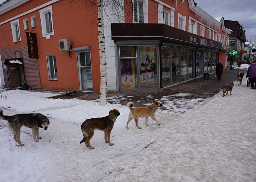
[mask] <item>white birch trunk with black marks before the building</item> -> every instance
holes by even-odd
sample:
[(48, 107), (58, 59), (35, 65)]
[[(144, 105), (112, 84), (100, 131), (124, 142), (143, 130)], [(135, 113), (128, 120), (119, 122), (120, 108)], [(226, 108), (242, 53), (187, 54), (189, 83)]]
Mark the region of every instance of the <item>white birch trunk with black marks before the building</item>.
[(99, 93), (99, 105), (107, 104), (107, 63), (105, 52), (105, 36), (103, 23), (103, 0), (98, 1), (98, 48), (99, 48), (99, 63), (101, 71), (101, 84)]

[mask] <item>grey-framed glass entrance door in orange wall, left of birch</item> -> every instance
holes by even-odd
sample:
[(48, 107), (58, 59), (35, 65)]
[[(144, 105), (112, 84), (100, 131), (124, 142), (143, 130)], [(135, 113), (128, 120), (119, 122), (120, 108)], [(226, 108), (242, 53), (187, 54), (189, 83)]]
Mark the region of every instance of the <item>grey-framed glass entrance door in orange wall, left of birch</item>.
[(80, 70), (80, 89), (81, 91), (93, 91), (92, 84), (92, 66), (91, 66), (91, 54), (87, 52), (77, 53)]

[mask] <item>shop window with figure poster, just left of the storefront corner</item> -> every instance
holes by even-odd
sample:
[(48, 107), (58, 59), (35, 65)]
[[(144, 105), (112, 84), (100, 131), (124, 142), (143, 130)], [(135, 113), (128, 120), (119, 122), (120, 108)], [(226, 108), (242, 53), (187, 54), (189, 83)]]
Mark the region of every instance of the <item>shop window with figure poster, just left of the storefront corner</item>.
[(157, 46), (139, 46), (141, 89), (158, 87)]

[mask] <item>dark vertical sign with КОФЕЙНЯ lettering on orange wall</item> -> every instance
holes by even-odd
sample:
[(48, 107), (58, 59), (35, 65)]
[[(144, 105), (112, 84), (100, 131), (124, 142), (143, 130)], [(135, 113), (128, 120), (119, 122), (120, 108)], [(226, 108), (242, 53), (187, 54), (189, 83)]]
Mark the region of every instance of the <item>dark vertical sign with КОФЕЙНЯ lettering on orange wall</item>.
[(28, 45), (29, 58), (38, 58), (36, 33), (26, 32), (26, 41)]

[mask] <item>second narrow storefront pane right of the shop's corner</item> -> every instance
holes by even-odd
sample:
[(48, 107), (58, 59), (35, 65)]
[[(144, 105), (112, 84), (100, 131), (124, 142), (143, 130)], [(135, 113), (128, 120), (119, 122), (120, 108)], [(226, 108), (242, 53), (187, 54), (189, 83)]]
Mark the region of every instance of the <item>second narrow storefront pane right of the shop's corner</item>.
[(180, 53), (178, 47), (171, 47), (172, 84), (180, 82)]

